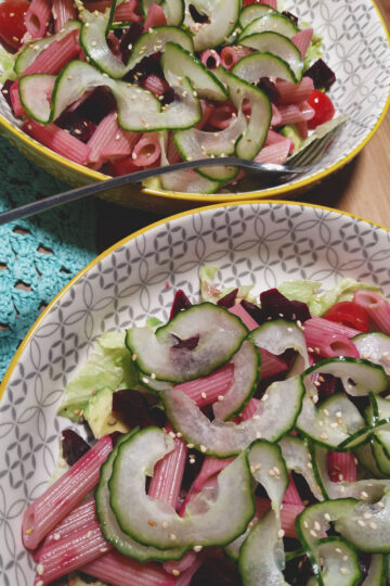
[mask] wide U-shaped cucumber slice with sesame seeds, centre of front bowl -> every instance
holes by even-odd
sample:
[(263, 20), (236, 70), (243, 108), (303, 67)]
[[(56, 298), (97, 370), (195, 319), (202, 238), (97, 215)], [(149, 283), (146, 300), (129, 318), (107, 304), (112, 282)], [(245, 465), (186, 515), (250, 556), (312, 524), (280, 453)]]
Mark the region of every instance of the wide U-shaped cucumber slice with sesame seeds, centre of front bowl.
[(178, 387), (161, 393), (160, 398), (170, 422), (186, 442), (204, 454), (226, 458), (239, 454), (258, 437), (277, 442), (288, 433), (300, 411), (302, 396), (300, 377), (277, 381), (268, 387), (252, 418), (239, 424), (219, 420), (211, 422)]

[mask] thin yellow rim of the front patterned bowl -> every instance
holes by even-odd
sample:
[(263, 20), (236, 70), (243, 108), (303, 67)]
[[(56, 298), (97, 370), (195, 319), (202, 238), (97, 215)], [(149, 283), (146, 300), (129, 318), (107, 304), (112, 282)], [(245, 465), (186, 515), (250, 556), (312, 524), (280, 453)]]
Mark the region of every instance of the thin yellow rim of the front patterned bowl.
[(352, 219), (355, 219), (355, 220), (359, 220), (359, 221), (364, 221), (364, 222), (370, 225), (374, 228), (379, 228), (381, 230), (385, 230), (385, 232), (388, 232), (389, 235), (390, 235), (390, 228), (386, 228), (385, 226), (381, 226), (380, 224), (376, 224), (375, 221), (372, 221), (372, 220), (368, 220), (368, 219), (363, 218), (361, 216), (358, 216), (356, 214), (352, 214), (350, 212), (343, 212), (341, 209), (337, 209), (337, 208), (334, 208), (334, 207), (328, 207), (328, 206), (325, 206), (325, 205), (303, 203), (303, 202), (297, 202), (297, 201), (285, 201), (285, 200), (261, 200), (261, 201), (259, 201), (259, 200), (248, 200), (248, 201), (245, 201), (245, 202), (243, 202), (243, 201), (224, 202), (222, 204), (213, 204), (213, 205), (208, 205), (208, 206), (203, 206), (203, 207), (196, 207), (194, 209), (187, 209), (185, 212), (181, 212), (181, 213), (178, 213), (178, 214), (172, 214), (171, 216), (168, 216), (168, 217), (162, 218), (160, 220), (154, 221), (153, 224), (148, 224), (147, 226), (145, 226), (145, 227), (136, 230), (135, 232), (132, 232), (131, 234), (125, 237), (123, 239), (119, 240), (118, 242), (116, 242), (115, 244), (113, 244), (112, 246), (109, 246), (108, 249), (103, 251), (101, 254), (99, 254), (83, 269), (81, 269), (73, 279), (70, 279), (70, 281), (55, 295), (55, 297), (53, 297), (53, 300), (49, 303), (49, 305), (40, 314), (40, 316), (37, 318), (37, 320), (32, 323), (32, 326), (28, 330), (27, 334), (25, 335), (25, 337), (21, 342), (15, 355), (13, 356), (13, 358), (12, 358), (12, 360), (11, 360), (6, 371), (5, 371), (4, 377), (3, 377), (2, 381), (0, 382), (0, 403), (1, 403), (2, 398), (3, 398), (3, 396), (5, 395), (5, 390), (8, 387), (9, 381), (10, 381), (10, 379), (12, 377), (12, 373), (13, 373), (14, 369), (16, 368), (16, 366), (17, 366), (17, 364), (20, 361), (20, 358), (21, 358), (23, 352), (28, 346), (28, 343), (29, 343), (30, 339), (32, 337), (35, 332), (38, 330), (41, 322), (46, 319), (47, 315), (52, 310), (52, 308), (56, 305), (56, 303), (65, 295), (65, 293), (67, 293), (67, 291), (74, 286), (74, 284), (76, 284), (80, 279), (82, 279), (82, 277), (91, 268), (96, 266), (104, 258), (108, 257), (117, 249), (120, 249), (121, 246), (123, 246), (125, 244), (128, 244), (129, 242), (131, 242), (132, 240), (138, 238), (139, 235), (145, 234), (146, 232), (148, 232), (150, 230), (153, 230), (154, 228), (157, 228), (159, 226), (164, 226), (165, 224), (167, 224), (169, 221), (177, 220), (179, 218), (184, 218), (186, 216), (192, 216), (194, 214), (199, 214), (199, 213), (207, 213), (209, 209), (219, 209), (219, 208), (223, 208), (223, 207), (235, 207), (235, 206), (239, 207), (240, 205), (245, 205), (245, 206), (248, 205), (249, 206), (249, 205), (269, 205), (269, 204), (272, 204), (272, 205), (286, 205), (286, 206), (297, 206), (297, 205), (299, 205), (301, 207), (308, 207), (308, 208), (312, 208), (312, 209), (322, 209), (322, 211), (326, 211), (326, 212), (333, 212), (334, 214), (339, 214), (341, 216), (346, 216), (346, 217), (349, 217), (349, 218), (352, 218)]

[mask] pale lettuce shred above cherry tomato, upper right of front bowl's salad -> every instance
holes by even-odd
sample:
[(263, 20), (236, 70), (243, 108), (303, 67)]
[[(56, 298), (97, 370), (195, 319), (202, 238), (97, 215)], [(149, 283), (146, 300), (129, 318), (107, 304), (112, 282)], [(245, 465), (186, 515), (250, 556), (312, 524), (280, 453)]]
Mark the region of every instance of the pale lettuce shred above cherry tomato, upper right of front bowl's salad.
[(376, 285), (360, 283), (353, 279), (342, 279), (337, 285), (322, 295), (317, 294), (321, 283), (315, 281), (285, 281), (277, 285), (278, 291), (288, 300), (297, 300), (309, 306), (312, 316), (323, 316), (333, 305), (343, 301), (352, 301), (355, 291), (368, 290), (380, 292)]

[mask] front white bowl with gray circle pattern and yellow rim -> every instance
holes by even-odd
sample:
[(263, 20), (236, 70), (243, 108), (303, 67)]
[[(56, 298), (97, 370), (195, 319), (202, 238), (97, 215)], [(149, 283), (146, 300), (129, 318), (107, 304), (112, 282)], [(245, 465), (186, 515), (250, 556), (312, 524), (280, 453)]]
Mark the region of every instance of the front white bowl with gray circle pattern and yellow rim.
[(11, 364), (0, 395), (0, 584), (30, 586), (21, 543), (24, 509), (44, 489), (58, 449), (64, 386), (106, 330), (168, 319), (173, 293), (196, 301), (198, 271), (219, 267), (226, 286), (253, 292), (282, 280), (332, 286), (342, 277), (390, 296), (390, 232), (324, 207), (285, 202), (212, 206), (159, 221), (81, 271), (46, 309)]

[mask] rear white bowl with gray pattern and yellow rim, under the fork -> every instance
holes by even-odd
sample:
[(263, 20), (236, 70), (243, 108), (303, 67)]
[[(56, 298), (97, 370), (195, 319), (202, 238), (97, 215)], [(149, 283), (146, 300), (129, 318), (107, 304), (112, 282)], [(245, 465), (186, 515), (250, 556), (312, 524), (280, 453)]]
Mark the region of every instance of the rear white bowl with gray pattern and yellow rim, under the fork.
[[(1, 1), (1, 0), (0, 0)], [(177, 213), (199, 205), (270, 199), (309, 189), (324, 177), (350, 162), (374, 136), (390, 103), (390, 39), (373, 0), (285, 0), (284, 10), (310, 23), (323, 37), (324, 59), (334, 69), (337, 82), (332, 97), (337, 113), (350, 120), (337, 143), (312, 170), (283, 186), (257, 189), (251, 184), (240, 193), (214, 195), (169, 193), (162, 190), (132, 187), (106, 193), (125, 206), (162, 213)], [(0, 97), (0, 131), (26, 156), (49, 173), (70, 184), (103, 181), (106, 175), (57, 155), (25, 135), (3, 97)]]

